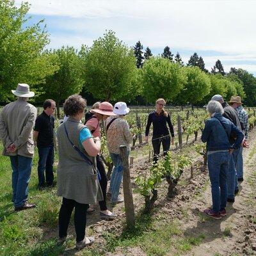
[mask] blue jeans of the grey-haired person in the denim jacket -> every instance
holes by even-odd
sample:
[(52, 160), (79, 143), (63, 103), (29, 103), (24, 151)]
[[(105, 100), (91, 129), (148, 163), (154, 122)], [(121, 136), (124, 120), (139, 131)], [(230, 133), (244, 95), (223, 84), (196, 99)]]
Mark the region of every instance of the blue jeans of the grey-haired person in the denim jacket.
[(216, 152), (207, 157), (212, 188), (212, 209), (220, 212), (227, 205), (227, 172), (230, 155), (228, 152)]

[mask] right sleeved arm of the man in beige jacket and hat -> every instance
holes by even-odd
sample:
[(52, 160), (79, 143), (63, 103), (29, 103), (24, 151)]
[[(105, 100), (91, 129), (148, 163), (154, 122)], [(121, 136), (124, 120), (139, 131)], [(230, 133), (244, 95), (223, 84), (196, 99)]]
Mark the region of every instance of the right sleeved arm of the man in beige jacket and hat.
[(13, 142), (17, 149), (22, 147), (28, 141), (29, 135), (35, 125), (36, 114), (37, 114), (36, 108), (32, 108), (31, 113), (29, 113), (29, 117), (26, 125), (24, 125), (22, 132), (18, 136), (17, 140)]

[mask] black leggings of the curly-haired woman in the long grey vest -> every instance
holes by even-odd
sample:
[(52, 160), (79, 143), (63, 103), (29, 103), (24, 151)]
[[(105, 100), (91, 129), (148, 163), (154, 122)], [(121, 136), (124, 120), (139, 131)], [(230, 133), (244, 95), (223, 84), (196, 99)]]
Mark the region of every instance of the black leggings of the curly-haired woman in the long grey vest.
[(85, 227), (86, 227), (86, 211), (89, 207), (88, 204), (80, 204), (75, 200), (67, 199), (63, 197), (62, 204), (60, 207), (59, 213), (59, 236), (67, 236), (68, 224), (72, 211), (75, 207), (75, 229), (76, 229), (76, 241), (83, 241), (85, 236)]

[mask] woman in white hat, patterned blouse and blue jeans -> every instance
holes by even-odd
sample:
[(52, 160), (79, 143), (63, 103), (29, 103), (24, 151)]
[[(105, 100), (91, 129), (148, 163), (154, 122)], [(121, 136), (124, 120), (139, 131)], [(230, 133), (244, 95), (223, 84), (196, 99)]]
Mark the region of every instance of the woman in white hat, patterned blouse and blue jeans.
[(114, 164), (109, 188), (111, 204), (118, 204), (124, 201), (118, 196), (123, 178), (123, 166), (119, 147), (120, 145), (126, 145), (127, 154), (129, 154), (132, 134), (128, 123), (124, 120), (124, 116), (127, 115), (129, 111), (130, 109), (127, 108), (125, 102), (117, 102), (113, 112), (118, 116), (108, 118), (106, 124), (108, 150)]

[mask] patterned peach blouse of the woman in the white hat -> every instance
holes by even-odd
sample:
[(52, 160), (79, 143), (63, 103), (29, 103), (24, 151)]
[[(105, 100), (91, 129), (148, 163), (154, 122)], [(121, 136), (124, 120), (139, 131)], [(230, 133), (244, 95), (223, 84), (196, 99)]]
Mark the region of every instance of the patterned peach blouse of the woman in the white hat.
[[(115, 118), (115, 116), (109, 117), (107, 119), (106, 125), (108, 125), (113, 118)], [(111, 125), (109, 125), (107, 132), (107, 144), (109, 153), (120, 154), (120, 145), (126, 145), (127, 150), (130, 150), (129, 144), (131, 143), (132, 134), (128, 123), (123, 118), (116, 118), (116, 120), (113, 121)]]

